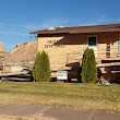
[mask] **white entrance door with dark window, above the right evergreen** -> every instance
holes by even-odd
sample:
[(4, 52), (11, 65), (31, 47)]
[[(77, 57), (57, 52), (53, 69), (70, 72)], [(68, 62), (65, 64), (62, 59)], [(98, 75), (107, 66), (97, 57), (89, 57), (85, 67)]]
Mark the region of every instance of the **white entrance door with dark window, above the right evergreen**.
[(97, 36), (87, 36), (88, 48), (94, 49), (95, 57), (97, 58)]

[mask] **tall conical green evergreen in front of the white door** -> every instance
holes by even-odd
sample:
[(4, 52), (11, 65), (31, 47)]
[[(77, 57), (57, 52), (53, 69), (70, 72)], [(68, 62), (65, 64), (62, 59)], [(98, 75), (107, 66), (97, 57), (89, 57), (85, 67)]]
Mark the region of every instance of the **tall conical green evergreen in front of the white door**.
[(96, 83), (97, 81), (97, 68), (93, 49), (87, 48), (84, 51), (81, 76), (83, 83)]

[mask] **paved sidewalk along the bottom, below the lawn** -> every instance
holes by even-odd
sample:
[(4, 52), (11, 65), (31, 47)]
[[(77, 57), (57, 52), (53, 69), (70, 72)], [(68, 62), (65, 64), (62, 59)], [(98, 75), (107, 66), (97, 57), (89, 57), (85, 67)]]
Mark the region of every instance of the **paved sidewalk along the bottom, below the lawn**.
[(34, 105), (0, 104), (0, 120), (120, 120), (120, 115), (50, 108)]

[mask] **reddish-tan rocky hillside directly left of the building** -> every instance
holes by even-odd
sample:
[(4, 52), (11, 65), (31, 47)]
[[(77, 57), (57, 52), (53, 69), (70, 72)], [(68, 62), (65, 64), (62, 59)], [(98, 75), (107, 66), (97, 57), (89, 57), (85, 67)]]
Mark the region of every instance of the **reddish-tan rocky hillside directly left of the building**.
[(4, 62), (24, 67), (32, 65), (36, 58), (36, 41), (17, 44), (12, 51), (5, 55)]

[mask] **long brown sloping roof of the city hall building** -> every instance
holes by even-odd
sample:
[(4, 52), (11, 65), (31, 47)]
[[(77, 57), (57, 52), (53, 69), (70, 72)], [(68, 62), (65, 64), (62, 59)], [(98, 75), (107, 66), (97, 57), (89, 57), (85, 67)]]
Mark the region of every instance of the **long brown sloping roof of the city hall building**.
[(29, 34), (79, 34), (79, 33), (103, 33), (103, 32), (120, 32), (120, 24), (75, 26), (75, 27), (57, 27), (32, 32)]

